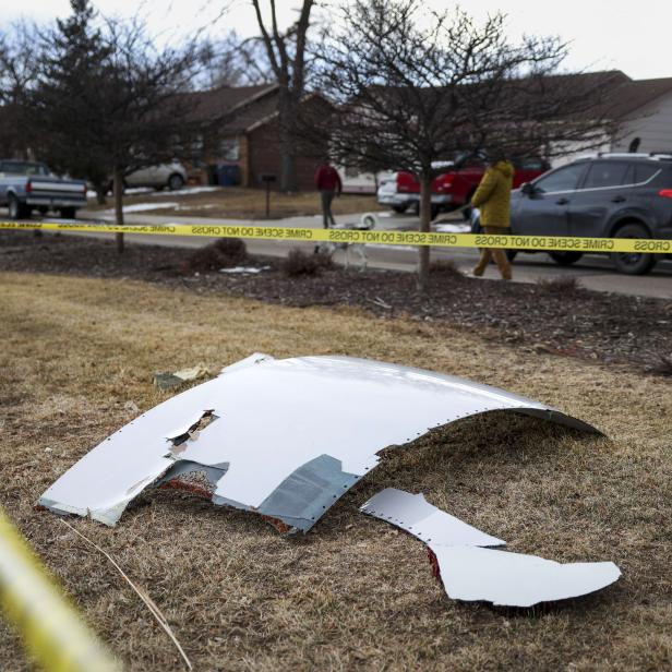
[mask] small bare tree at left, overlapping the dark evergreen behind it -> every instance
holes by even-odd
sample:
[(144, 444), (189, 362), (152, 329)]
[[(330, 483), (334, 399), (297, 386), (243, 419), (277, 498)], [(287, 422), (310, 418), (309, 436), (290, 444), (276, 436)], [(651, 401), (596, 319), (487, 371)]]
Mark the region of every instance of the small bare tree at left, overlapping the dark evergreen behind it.
[[(60, 170), (98, 189), (112, 180), (116, 221), (123, 225), (125, 176), (175, 156), (188, 113), (180, 94), (197, 45), (159, 49), (140, 20), (96, 22), (89, 0), (71, 7), (72, 15), (45, 36), (32, 118)], [(122, 233), (117, 247), (123, 251)]]

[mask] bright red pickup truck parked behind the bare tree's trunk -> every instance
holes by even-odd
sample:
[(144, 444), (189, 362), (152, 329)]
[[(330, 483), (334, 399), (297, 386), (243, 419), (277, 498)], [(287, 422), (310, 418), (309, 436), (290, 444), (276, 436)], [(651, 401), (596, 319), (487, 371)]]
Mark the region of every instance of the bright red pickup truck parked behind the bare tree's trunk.
[[(529, 182), (549, 170), (547, 161), (539, 157), (527, 157), (514, 160), (516, 172), (514, 188), (523, 182)], [(464, 155), (455, 161), (433, 164), (435, 170), (445, 168), (432, 182), (432, 218), (441, 211), (453, 211), (471, 201), (483, 173), (485, 161), (482, 158)], [(377, 202), (388, 205), (396, 213), (404, 213), (408, 208), (418, 209), (420, 205), (420, 183), (411, 172), (395, 172), (381, 187), (377, 192)], [(465, 218), (469, 218), (469, 211), (465, 211)]]

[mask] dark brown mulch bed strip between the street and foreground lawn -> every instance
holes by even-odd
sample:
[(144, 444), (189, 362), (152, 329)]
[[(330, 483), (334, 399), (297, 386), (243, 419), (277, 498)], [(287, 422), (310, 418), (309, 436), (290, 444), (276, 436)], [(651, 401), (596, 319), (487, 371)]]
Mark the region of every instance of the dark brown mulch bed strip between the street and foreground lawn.
[(127, 244), (28, 231), (0, 231), (0, 271), (76, 274), (161, 283), (196, 292), (226, 292), (286, 305), (349, 305), (381, 317), (409, 316), (472, 329), (521, 348), (628, 363), (672, 374), (672, 300), (595, 292), (572, 283), (476, 280), (437, 269), (421, 297), (412, 274), (323, 271), (287, 277), (281, 262), (255, 276), (194, 273), (193, 250)]

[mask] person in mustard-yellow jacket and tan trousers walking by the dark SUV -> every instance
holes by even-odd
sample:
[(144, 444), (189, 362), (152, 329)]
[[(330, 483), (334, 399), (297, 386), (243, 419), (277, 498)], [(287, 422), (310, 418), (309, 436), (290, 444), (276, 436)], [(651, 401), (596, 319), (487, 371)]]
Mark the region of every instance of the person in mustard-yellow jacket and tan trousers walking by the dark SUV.
[[(511, 233), (511, 190), (514, 182), (514, 167), (506, 159), (494, 161), (481, 179), (471, 196), (471, 205), (481, 213), (484, 233)], [(481, 250), (481, 259), (473, 268), (480, 277), (490, 260), (494, 259), (505, 280), (511, 280), (511, 264), (504, 250)]]

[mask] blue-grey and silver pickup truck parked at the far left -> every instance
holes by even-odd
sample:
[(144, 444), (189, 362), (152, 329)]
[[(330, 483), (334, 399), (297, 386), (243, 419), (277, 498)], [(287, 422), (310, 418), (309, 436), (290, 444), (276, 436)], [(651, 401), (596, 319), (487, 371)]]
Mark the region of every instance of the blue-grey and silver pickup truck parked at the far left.
[(5, 206), (12, 219), (29, 217), (34, 209), (72, 219), (85, 205), (85, 181), (61, 179), (45, 164), (0, 160), (0, 207)]

